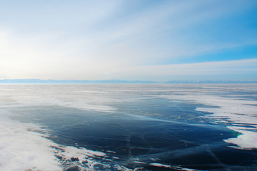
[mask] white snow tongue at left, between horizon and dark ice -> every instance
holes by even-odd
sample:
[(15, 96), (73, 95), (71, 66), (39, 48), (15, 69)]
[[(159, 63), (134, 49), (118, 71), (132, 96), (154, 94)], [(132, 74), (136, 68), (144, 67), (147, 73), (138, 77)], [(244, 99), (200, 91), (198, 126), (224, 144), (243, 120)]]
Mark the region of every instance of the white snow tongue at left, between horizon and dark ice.
[[(1, 104), (12, 106), (59, 105), (84, 110), (112, 111), (115, 108), (105, 105), (111, 99), (99, 91), (84, 91), (83, 86), (51, 86), (51, 85), (1, 85)], [(6, 87), (13, 87), (6, 89)], [(81, 91), (79, 89), (81, 88)], [(94, 93), (93, 93), (94, 92)]]

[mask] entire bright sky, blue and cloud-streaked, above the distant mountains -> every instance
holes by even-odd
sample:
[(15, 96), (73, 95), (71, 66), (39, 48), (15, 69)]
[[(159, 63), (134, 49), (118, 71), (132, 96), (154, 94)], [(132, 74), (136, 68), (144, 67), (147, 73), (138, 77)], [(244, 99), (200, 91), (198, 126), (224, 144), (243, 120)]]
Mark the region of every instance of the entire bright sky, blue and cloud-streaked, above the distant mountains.
[(256, 0), (0, 4), (0, 79), (257, 81)]

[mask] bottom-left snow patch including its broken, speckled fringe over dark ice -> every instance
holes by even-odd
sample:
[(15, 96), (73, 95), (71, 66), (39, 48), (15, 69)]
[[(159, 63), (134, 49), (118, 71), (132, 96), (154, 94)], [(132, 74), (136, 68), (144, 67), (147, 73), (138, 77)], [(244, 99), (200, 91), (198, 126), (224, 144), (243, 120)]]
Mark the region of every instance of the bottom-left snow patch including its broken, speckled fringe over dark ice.
[(108, 167), (96, 161), (106, 156), (104, 152), (59, 145), (45, 138), (45, 134), (36, 133), (36, 130), (47, 131), (1, 116), (0, 170), (57, 171), (71, 167), (72, 161), (77, 161), (76, 165), (85, 167), (85, 170), (94, 170), (95, 165)]

